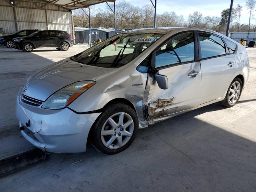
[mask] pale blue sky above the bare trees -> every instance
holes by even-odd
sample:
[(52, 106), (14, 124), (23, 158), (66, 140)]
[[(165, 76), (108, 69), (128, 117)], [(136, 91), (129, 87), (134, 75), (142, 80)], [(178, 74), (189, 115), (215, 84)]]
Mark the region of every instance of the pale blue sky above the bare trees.
[[(116, 0), (116, 3), (121, 0)], [(155, 0), (152, 0), (153, 2)], [(138, 7), (142, 7), (145, 4), (151, 4), (150, 0), (126, 0), (130, 4)], [(234, 0), (233, 7), (237, 4), (243, 6), (241, 23), (248, 24), (249, 13), (245, 7), (246, 0)], [(109, 3), (111, 4), (111, 3)], [(93, 9), (98, 8), (106, 9), (106, 3), (94, 5)], [(177, 15), (183, 15), (185, 19), (189, 14), (194, 11), (199, 11), (203, 16), (219, 16), (223, 9), (230, 7), (230, 0), (157, 0), (156, 13), (162, 14), (163, 12), (176, 12)], [(255, 12), (256, 14), (256, 12)], [(256, 20), (251, 21), (252, 24), (256, 24)]]

